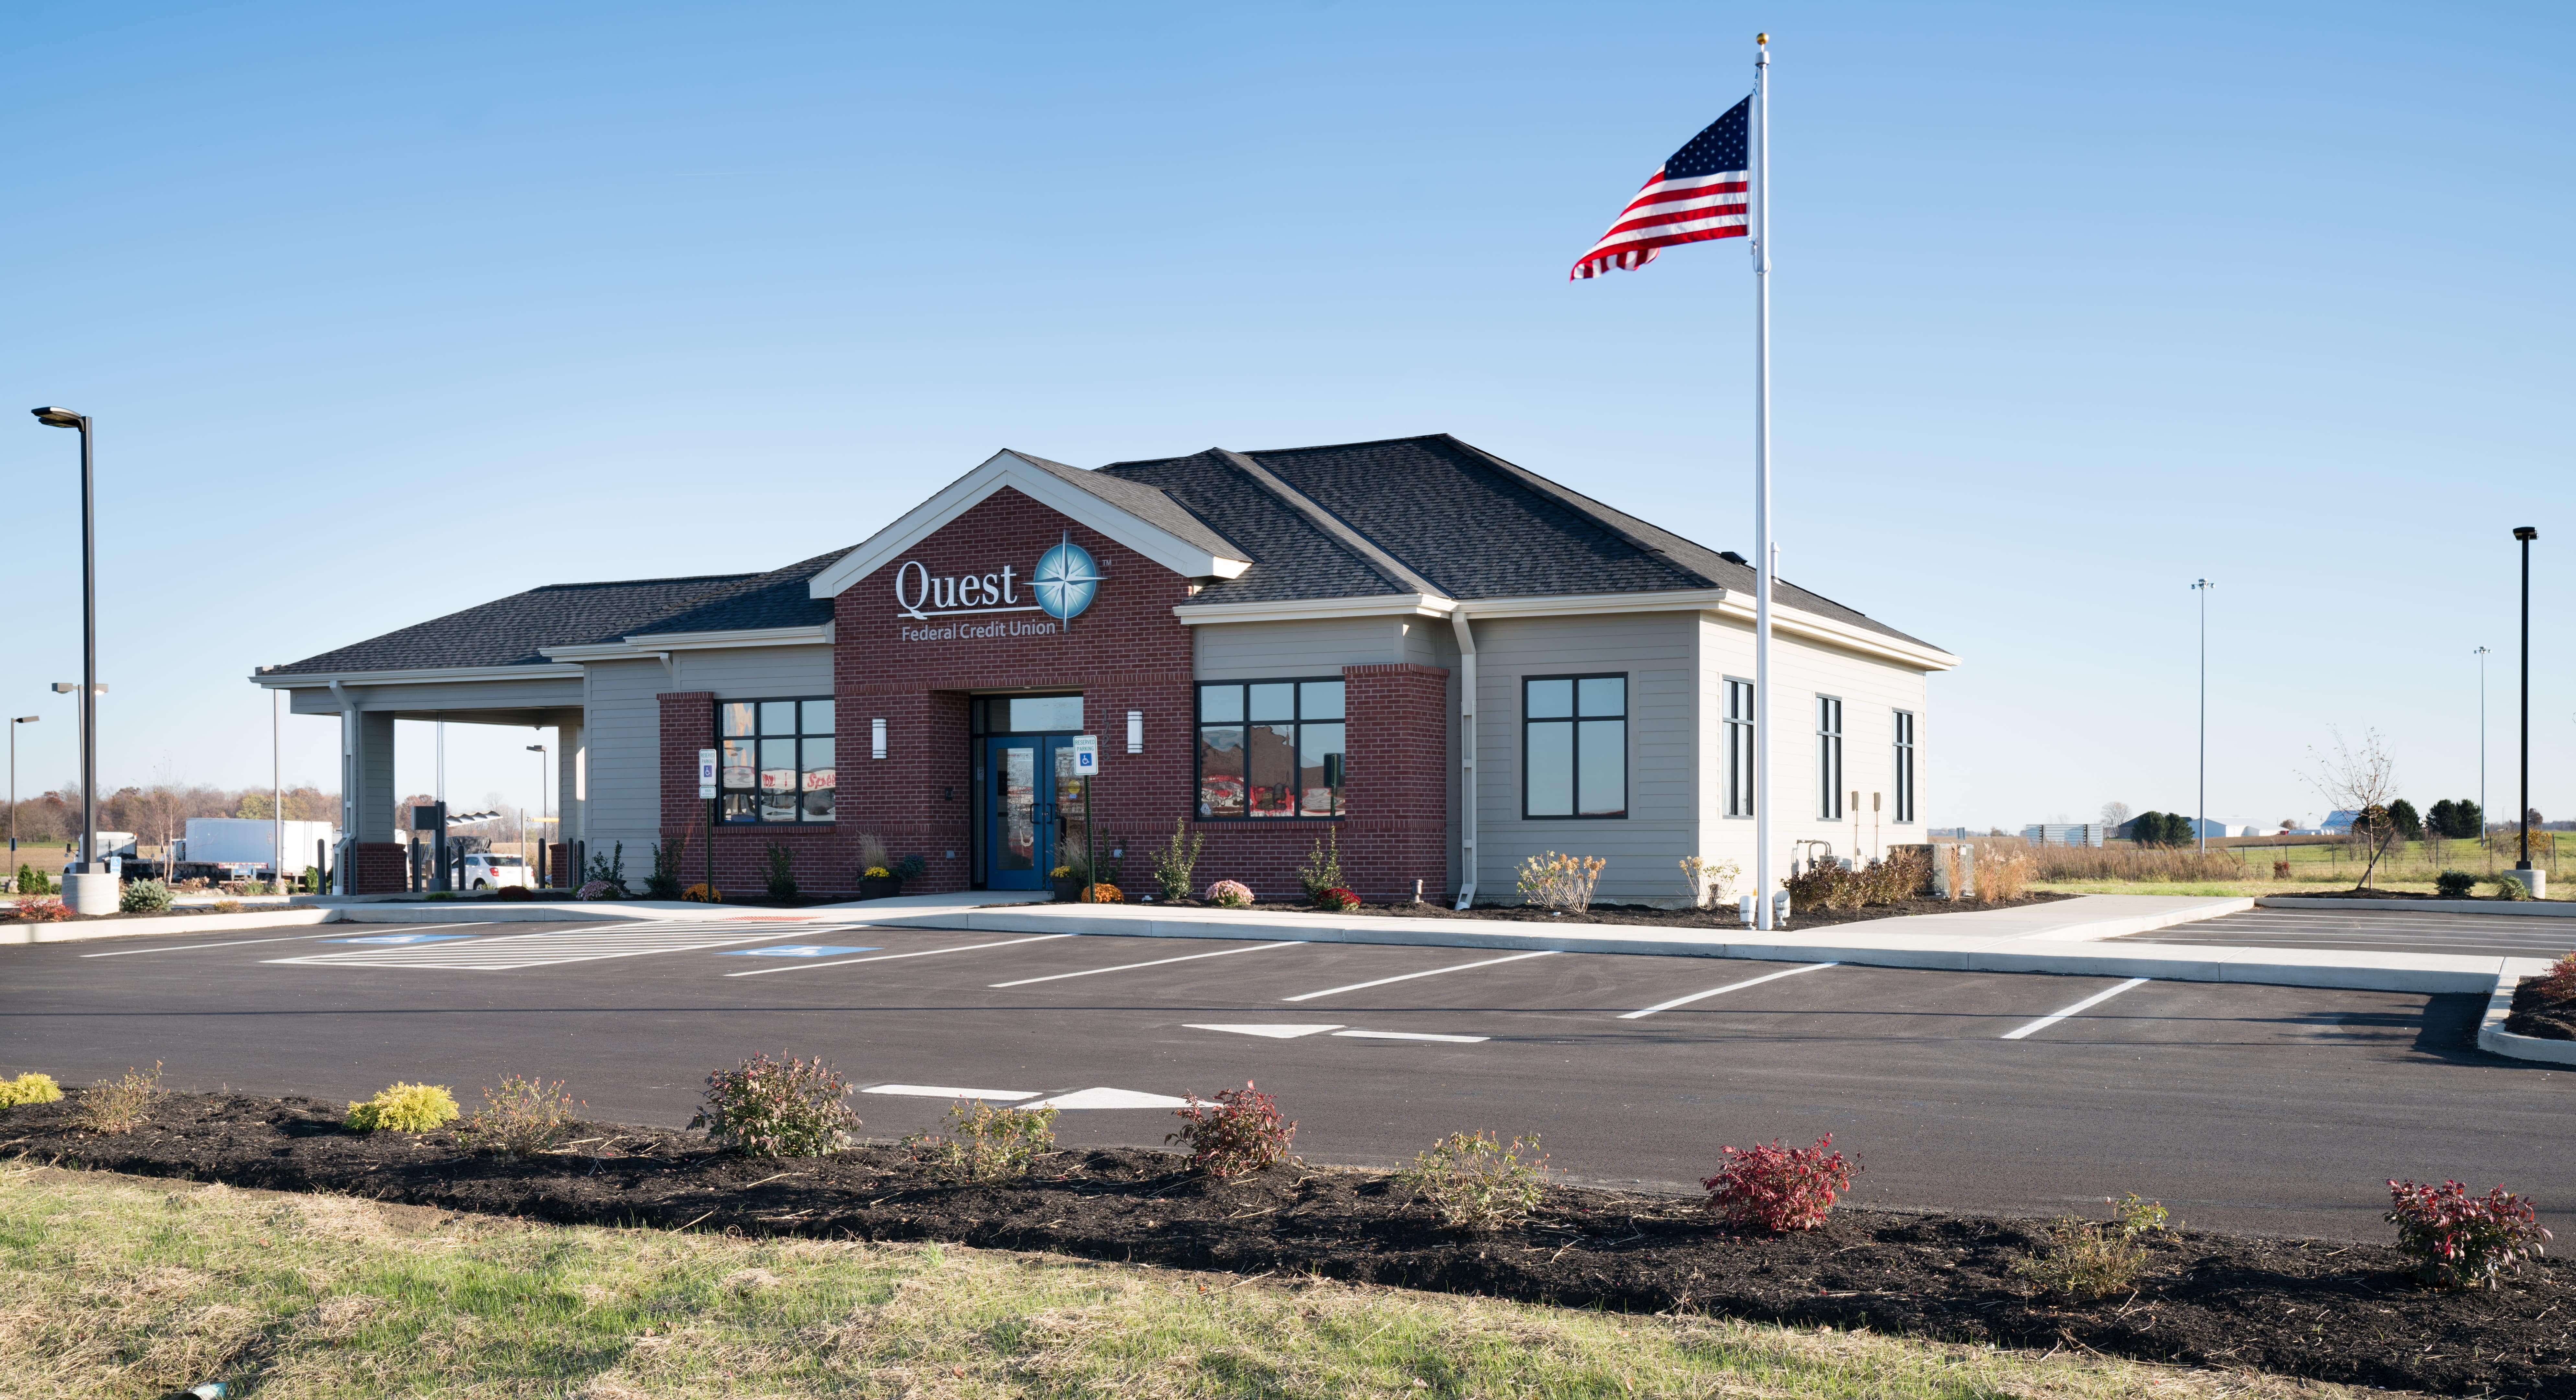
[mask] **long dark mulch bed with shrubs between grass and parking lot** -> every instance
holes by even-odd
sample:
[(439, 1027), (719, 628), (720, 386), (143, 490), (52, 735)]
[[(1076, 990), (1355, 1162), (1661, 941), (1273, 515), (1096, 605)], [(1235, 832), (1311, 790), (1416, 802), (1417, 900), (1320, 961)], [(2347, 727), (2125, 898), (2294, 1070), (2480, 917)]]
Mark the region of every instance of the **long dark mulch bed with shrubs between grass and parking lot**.
[(2576, 1397), (2576, 1266), (2434, 1292), (2380, 1245), (2177, 1230), (2133, 1294), (2069, 1302), (2014, 1263), (2038, 1222), (1839, 1212), (1806, 1235), (1736, 1232), (1692, 1199), (1548, 1189), (1520, 1227), (1458, 1235), (1383, 1173), (1288, 1165), (1208, 1181), (1146, 1150), (1069, 1150), (1028, 1178), (951, 1186), (902, 1147), (822, 1160), (716, 1152), (698, 1134), (582, 1124), (544, 1158), (477, 1155), (448, 1132), (355, 1134), (317, 1098), (170, 1093), (121, 1137), (70, 1127), (77, 1098), (0, 1114), (0, 1155), (551, 1222), (953, 1240), (1084, 1258), (1324, 1274), (1631, 1312), (1875, 1328), (2154, 1361), (2254, 1366), (2455, 1395)]

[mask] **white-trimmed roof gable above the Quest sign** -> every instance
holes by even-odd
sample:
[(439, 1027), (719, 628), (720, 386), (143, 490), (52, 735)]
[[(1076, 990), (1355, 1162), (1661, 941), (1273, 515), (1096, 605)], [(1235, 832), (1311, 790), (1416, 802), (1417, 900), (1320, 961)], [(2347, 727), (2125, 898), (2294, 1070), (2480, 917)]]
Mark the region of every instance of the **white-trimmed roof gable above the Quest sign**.
[(832, 598), (891, 565), (1005, 487), (1082, 521), (1182, 578), (1236, 578), (1252, 567), (1249, 554), (1151, 485), (1005, 449), (817, 572), (809, 583), (814, 598)]

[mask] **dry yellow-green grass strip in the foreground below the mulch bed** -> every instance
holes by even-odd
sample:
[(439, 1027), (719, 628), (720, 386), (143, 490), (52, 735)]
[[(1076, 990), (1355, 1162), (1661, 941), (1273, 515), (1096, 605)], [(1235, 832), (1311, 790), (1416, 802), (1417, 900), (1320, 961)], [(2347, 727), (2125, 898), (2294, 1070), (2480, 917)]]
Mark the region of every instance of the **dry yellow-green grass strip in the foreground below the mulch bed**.
[[(0, 1171), (0, 1395), (2326, 1397), (2105, 1356)], [(2372, 1392), (2385, 1395), (2385, 1392)]]

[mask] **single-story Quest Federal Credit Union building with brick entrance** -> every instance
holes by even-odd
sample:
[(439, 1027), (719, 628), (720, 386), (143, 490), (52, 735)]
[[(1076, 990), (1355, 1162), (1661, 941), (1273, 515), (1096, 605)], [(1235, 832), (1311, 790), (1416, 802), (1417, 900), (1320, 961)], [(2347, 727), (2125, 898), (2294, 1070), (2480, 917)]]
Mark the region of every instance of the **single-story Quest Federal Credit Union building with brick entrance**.
[[(1543, 851), (1602, 900), (1687, 900), (1752, 861), (1754, 572), (1450, 436), (1077, 469), (999, 451), (853, 549), (760, 575), (533, 588), (252, 681), (340, 714), (358, 890), (402, 884), (394, 719), (562, 730), (562, 835), (652, 846), (757, 892), (853, 890), (863, 838), (912, 890), (1043, 887), (1092, 828), (1151, 890), (1345, 884), (1515, 900)], [(1924, 678), (1958, 657), (1775, 593), (1772, 869), (1922, 841)], [(714, 802), (698, 797), (716, 755)]]

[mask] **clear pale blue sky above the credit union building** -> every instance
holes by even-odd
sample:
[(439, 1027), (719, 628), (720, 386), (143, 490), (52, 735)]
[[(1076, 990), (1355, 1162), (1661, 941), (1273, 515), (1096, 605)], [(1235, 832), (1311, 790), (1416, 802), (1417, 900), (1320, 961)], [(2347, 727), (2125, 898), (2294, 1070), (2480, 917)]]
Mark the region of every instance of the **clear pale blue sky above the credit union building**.
[[(2571, 15), (36, 3), (0, 382), (100, 420), (108, 784), (265, 781), (252, 665), (855, 544), (997, 446), (1450, 431), (1747, 549), (1741, 245), (1566, 266), (1770, 28), (1783, 572), (1965, 657), (1929, 820), (2190, 807), (2200, 575), (2213, 815), (2316, 815), (2329, 727), (2473, 794), (2481, 642), (2509, 810), (2517, 523), (2576, 815)], [(0, 472), (41, 786), (70, 433)], [(528, 737), (448, 794), (533, 802)]]

